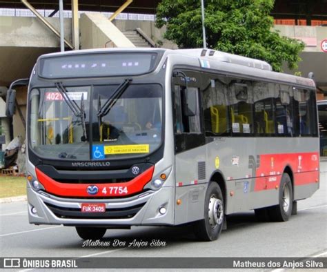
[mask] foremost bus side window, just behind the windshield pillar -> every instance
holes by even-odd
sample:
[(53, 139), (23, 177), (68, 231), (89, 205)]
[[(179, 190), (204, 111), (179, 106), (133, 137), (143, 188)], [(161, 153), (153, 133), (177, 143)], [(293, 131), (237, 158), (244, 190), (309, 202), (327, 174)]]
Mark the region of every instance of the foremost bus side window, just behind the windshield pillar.
[[(190, 74), (190, 72), (188, 72)], [(174, 86), (175, 133), (201, 133), (199, 88), (196, 77), (177, 77)], [(188, 81), (188, 84), (186, 84)]]

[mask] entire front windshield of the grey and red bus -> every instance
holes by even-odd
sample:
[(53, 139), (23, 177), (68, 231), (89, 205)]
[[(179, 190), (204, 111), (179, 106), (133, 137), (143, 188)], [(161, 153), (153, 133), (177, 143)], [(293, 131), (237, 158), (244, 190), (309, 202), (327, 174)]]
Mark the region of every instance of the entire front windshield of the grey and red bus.
[[(161, 144), (159, 84), (34, 88), (30, 146), (48, 159), (101, 160), (152, 153)], [(110, 104), (106, 107), (106, 104)]]

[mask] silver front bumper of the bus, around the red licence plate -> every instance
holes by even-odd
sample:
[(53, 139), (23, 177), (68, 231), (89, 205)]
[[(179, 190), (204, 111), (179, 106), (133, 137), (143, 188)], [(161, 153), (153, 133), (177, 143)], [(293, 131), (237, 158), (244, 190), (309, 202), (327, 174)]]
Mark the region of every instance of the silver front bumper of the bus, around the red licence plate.
[[(174, 188), (147, 191), (120, 199), (63, 198), (35, 192), (28, 185), (28, 217), (31, 224), (68, 226), (139, 226), (174, 224)], [(106, 213), (81, 213), (81, 203), (104, 203)], [(32, 208), (37, 213), (32, 213)], [(161, 215), (159, 208), (165, 207)]]

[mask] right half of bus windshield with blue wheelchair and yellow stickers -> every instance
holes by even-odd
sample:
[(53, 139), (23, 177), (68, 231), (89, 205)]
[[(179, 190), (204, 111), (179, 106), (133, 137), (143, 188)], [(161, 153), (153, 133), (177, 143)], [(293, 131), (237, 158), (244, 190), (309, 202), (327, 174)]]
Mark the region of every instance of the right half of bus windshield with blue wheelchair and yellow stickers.
[[(161, 144), (162, 97), (159, 85), (95, 86), (92, 108), (92, 159), (152, 153)], [(111, 108), (102, 115), (108, 101)], [(102, 155), (100, 155), (100, 153)]]

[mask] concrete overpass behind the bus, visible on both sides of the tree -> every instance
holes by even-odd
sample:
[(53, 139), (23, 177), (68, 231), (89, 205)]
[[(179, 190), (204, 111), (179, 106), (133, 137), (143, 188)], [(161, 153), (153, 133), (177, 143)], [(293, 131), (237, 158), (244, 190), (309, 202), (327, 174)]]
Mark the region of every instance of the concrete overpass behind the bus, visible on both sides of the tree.
[[(54, 28), (59, 29), (58, 18), (46, 19)], [(137, 29), (143, 32), (143, 39), (146, 37), (153, 42), (152, 45), (164, 41), (162, 47), (177, 48), (174, 43), (163, 39), (164, 29), (155, 28), (153, 21), (115, 20), (110, 23), (103, 15), (92, 13), (83, 14), (79, 26), (82, 49), (135, 46), (121, 32)], [(314, 72), (317, 86), (327, 95), (327, 53), (322, 52), (320, 46), (321, 41), (327, 39), (327, 27), (275, 26), (275, 29), (281, 35), (301, 39), (306, 43), (306, 48), (301, 53), (303, 61), (299, 63), (299, 71), (304, 77), (308, 72)], [(65, 19), (65, 37), (72, 43), (71, 19)], [(15, 79), (28, 77), (39, 55), (56, 51), (59, 51), (59, 38), (36, 17), (0, 17), (0, 86), (9, 86)], [(287, 67), (284, 70), (295, 72)]]

